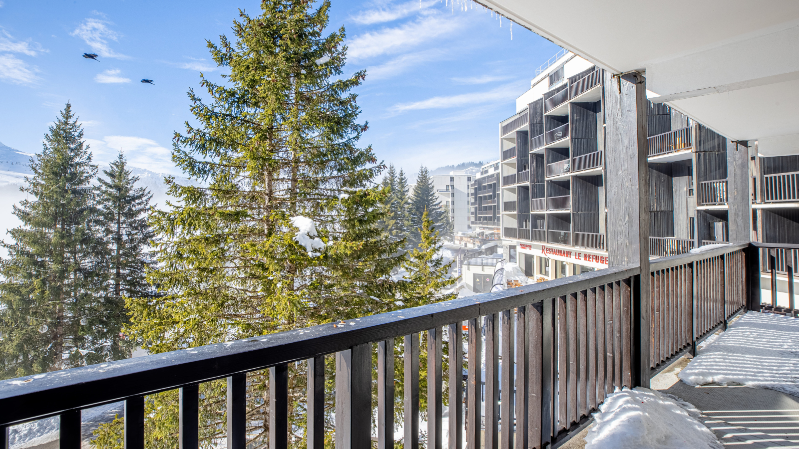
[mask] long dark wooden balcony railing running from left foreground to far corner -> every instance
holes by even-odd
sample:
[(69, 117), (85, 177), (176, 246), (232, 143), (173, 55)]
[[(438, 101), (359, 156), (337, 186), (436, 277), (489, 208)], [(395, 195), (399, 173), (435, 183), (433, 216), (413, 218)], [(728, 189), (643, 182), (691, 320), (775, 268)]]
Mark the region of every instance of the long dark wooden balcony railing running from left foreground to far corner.
[[(181, 432), (176, 437), (182, 447), (197, 447), (197, 428), (208, 423), (199, 413), (198, 388), (201, 383), (227, 379), (224, 394), (229, 405), (223, 432), (233, 447), (245, 446), (250, 419), (247, 397), (256, 394), (265, 395), (264, 402), (269, 404), (269, 447), (286, 447), (289, 432), (325, 435), (331, 422), (336, 423), (331, 439), (340, 447), (369, 447), (372, 435), (377, 447), (394, 447), (394, 367), (400, 363), (406, 367), (401, 376), (410, 404), (405, 407), (406, 423), (420, 421), (419, 370), (426, 368), (427, 385), (436, 386), (428, 390), (427, 431), (406, 429), (406, 443), (426, 438), (428, 447), (442, 447), (441, 404), (447, 391), (449, 415), (465, 416), (449, 420), (449, 435), (465, 435), (467, 447), (480, 447), (483, 439), (496, 441), (499, 422), (514, 422), (514, 416), (515, 434), (527, 435), (527, 447), (561, 446), (590, 422), (591, 413), (606, 395), (633, 387), (634, 382), (648, 383), (658, 368), (724, 327), (738, 312), (759, 310), (761, 272), (755, 269), (753, 276), (750, 269), (758, 267), (759, 252), (754, 251), (751, 258), (747, 253), (745, 259), (743, 252), (748, 248), (749, 244), (728, 245), (665, 258), (650, 264), (646, 273), (638, 266), (608, 268), (363, 316), (346, 324), (320, 324), (191, 351), (2, 380), (0, 428), (59, 416), (60, 447), (81, 447), (81, 409), (124, 400), (125, 432), (119, 443), (127, 449), (143, 449), (145, 395), (180, 389), (176, 421), (181, 423)], [(638, 281), (638, 276), (645, 281)], [(642, 299), (646, 320), (635, 320), (634, 301), (642, 298), (642, 285), (651, 285), (652, 290)], [(421, 332), (425, 332), (428, 360), (434, 363), (420, 364)], [(395, 356), (400, 342), (404, 351)], [(447, 356), (443, 356), (444, 346)], [(324, 369), (328, 355), (336, 360), (331, 370)], [(446, 377), (444, 357), (449, 368)], [(646, 357), (644, 364), (635, 363), (642, 357)], [(296, 422), (288, 419), (289, 364), (307, 368), (307, 387), (292, 388), (305, 396), (301, 400), (307, 401), (306, 410), (318, 411)], [(514, 366), (526, 369), (514, 370)], [(269, 388), (264, 394), (248, 385), (247, 374), (266, 369)], [(445, 382), (446, 389), (440, 387)], [(331, 385), (336, 386), (335, 401), (327, 403)], [(565, 391), (582, 394), (568, 395), (574, 399), (570, 400)], [(372, 428), (374, 416), (376, 429)], [(308, 439), (312, 449), (324, 443), (322, 438)]]

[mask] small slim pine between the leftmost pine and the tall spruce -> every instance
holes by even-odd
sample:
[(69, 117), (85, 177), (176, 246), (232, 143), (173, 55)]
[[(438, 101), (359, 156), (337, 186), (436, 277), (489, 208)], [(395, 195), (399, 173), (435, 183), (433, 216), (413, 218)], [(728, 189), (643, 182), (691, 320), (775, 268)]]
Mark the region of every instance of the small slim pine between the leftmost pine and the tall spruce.
[(109, 296), (122, 301), (123, 296), (147, 296), (145, 266), (149, 262), (148, 247), (155, 233), (149, 228), (146, 213), (153, 195), (145, 187), (136, 187), (139, 177), (132, 177), (122, 152), (103, 170), (106, 181), (100, 183), (98, 202), (101, 225), (109, 244)]

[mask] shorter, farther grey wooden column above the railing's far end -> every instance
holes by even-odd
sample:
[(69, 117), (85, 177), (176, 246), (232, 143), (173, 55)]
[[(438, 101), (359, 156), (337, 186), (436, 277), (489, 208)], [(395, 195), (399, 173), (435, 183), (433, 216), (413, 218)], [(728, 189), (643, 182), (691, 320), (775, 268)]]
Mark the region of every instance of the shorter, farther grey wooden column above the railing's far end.
[(727, 233), (729, 241), (752, 240), (752, 193), (747, 141), (727, 141)]

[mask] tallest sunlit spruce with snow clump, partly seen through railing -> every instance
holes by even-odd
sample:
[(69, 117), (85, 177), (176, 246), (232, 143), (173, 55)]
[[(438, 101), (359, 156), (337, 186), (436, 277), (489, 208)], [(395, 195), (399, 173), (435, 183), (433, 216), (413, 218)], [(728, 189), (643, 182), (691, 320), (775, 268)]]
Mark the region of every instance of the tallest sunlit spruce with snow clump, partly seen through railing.
[[(316, 10), (312, 5), (318, 6)], [(330, 2), (264, 0), (234, 22), (236, 42), (209, 42), (229, 70), (205, 77), (211, 101), (189, 92), (197, 127), (176, 133), (173, 161), (201, 186), (153, 213), (162, 240), (148, 279), (162, 296), (131, 298), (129, 332), (150, 352), (257, 336), (397, 308), (408, 282), (392, 280), (400, 243), (384, 238), (383, 168), (343, 74), (344, 30), (323, 36)], [(266, 372), (248, 373), (248, 447), (268, 446)], [(289, 367), (289, 423), (304, 423), (302, 367)], [(201, 384), (201, 441), (224, 437), (224, 382)], [(175, 392), (149, 396), (148, 447), (176, 443)], [(330, 391), (332, 394), (332, 391)], [(113, 442), (118, 423), (99, 432)], [(301, 432), (290, 432), (292, 447)]]

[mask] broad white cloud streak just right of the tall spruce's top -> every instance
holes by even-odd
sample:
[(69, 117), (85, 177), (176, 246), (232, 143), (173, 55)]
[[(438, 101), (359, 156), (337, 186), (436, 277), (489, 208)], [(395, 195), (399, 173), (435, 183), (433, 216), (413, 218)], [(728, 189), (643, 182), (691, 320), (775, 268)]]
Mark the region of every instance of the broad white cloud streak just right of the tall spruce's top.
[(451, 33), (459, 26), (459, 18), (422, 18), (395, 28), (384, 28), (361, 34), (347, 42), (348, 57), (352, 60), (372, 58), (381, 54), (401, 53), (441, 34)]

